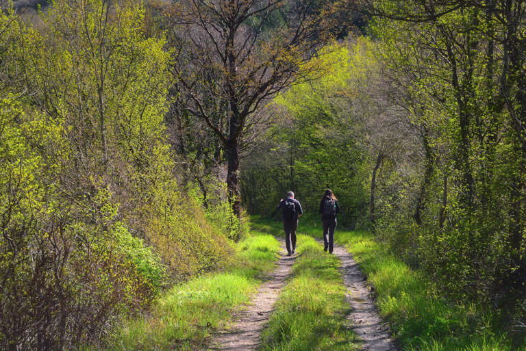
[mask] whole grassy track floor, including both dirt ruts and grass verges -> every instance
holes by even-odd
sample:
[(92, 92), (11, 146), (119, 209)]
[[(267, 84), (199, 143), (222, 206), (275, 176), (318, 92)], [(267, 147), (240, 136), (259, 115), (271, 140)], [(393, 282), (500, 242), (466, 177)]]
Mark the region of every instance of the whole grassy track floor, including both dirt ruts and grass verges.
[(395, 351), (383, 317), (405, 351), (526, 351), (484, 309), (434, 294), (371, 233), (338, 229), (329, 255), (319, 223), (302, 219), (297, 254), (286, 257), (281, 224), (251, 222), (229, 265), (164, 291), (105, 350)]

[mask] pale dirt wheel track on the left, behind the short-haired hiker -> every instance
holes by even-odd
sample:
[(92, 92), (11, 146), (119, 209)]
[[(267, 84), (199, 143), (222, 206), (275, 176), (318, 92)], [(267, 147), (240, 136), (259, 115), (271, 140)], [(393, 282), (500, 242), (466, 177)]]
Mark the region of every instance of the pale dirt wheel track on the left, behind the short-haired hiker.
[[(278, 239), (285, 246), (283, 239)], [(274, 303), (285, 285), (286, 278), (292, 271), (292, 264), (297, 255), (287, 257), (281, 252), (277, 267), (266, 283), (254, 296), (249, 307), (234, 316), (234, 327), (227, 333), (219, 334), (214, 339), (212, 350), (255, 350), (260, 344), (260, 334), (270, 317)]]

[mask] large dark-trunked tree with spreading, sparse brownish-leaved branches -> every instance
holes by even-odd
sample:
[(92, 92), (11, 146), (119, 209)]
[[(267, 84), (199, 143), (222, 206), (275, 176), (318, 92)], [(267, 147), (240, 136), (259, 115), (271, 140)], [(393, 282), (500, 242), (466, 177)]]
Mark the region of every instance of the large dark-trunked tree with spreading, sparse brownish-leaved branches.
[(175, 76), (188, 111), (221, 142), (237, 216), (243, 135), (262, 122), (268, 99), (321, 70), (308, 59), (331, 38), (335, 11), (319, 0), (185, 0), (169, 10), (179, 43)]

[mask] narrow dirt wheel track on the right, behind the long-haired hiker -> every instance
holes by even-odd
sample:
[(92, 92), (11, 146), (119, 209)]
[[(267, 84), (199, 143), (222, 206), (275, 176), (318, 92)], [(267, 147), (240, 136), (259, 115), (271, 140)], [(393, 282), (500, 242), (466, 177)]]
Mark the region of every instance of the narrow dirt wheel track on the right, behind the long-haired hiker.
[(353, 324), (353, 330), (364, 341), (363, 350), (366, 351), (397, 351), (388, 328), (382, 322), (369, 296), (369, 288), (360, 266), (353, 259), (353, 255), (342, 246), (334, 246), (334, 254), (342, 262), (341, 272), (347, 287), (347, 300), (352, 311), (348, 318)]

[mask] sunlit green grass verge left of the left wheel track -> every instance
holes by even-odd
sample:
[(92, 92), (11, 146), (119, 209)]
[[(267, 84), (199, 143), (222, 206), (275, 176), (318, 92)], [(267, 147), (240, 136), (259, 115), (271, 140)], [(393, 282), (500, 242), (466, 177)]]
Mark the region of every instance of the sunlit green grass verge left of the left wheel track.
[(248, 302), (261, 278), (273, 271), (279, 242), (252, 232), (236, 245), (225, 272), (205, 274), (166, 291), (151, 313), (129, 320), (111, 337), (114, 351), (195, 350), (214, 330), (226, 328), (236, 307)]

